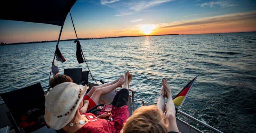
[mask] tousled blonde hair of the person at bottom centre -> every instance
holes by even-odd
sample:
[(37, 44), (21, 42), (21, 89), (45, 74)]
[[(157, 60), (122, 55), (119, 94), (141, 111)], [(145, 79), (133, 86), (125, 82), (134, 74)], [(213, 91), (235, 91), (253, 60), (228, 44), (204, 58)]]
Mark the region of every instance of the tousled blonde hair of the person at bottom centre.
[(155, 105), (136, 109), (123, 126), (123, 133), (167, 133), (164, 114)]

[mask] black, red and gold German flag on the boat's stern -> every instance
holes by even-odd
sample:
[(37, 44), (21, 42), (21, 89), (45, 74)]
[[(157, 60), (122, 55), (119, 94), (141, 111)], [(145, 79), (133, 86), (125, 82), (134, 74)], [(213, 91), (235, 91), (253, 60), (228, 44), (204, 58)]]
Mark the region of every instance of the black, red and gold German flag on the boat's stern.
[[(196, 75), (197, 77), (197, 75)], [(190, 89), (192, 88), (196, 77), (193, 78), (172, 100), (175, 105), (180, 106), (180, 104), (186, 99)]]

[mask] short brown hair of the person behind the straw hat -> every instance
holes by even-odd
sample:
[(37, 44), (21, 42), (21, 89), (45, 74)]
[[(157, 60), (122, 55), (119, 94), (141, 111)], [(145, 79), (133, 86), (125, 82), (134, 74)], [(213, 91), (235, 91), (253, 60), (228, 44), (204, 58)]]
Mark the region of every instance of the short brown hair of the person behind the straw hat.
[(50, 79), (49, 84), (53, 88), (54, 86), (64, 82), (73, 82), (73, 80), (67, 75), (56, 75)]

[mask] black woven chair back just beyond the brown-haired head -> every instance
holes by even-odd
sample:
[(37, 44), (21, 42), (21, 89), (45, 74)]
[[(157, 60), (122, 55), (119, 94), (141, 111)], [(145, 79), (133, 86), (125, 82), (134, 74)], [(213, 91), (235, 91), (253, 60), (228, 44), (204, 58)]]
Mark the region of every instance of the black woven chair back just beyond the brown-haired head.
[(68, 68), (64, 69), (64, 75), (72, 78), (73, 82), (76, 84), (83, 84), (82, 79), (82, 68)]

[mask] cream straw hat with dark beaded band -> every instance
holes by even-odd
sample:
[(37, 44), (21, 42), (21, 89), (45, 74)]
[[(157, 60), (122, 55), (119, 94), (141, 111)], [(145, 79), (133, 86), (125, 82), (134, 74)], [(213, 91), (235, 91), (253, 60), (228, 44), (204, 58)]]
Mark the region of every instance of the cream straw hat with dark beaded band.
[(80, 88), (72, 82), (53, 87), (45, 96), (45, 122), (56, 130), (66, 126), (74, 117), (86, 90), (87, 87)]

